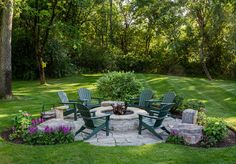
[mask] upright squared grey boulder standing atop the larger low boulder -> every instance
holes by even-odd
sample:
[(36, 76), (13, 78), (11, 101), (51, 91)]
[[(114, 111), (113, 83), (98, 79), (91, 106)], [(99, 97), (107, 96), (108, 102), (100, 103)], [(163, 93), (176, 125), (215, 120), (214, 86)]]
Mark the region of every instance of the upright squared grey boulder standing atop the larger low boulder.
[(182, 113), (182, 123), (196, 124), (197, 123), (197, 110), (185, 109)]

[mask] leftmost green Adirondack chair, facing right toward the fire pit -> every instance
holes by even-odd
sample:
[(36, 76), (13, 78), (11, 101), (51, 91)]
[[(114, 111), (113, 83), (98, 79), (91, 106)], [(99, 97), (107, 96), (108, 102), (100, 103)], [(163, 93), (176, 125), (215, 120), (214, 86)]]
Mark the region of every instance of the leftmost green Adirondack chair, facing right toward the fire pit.
[(64, 106), (66, 106), (66, 111), (64, 111), (64, 116), (69, 115), (74, 113), (74, 120), (77, 120), (77, 109), (76, 109), (76, 104), (78, 104), (79, 102), (76, 100), (69, 100), (67, 97), (67, 94), (64, 91), (59, 91), (57, 92), (61, 103)]

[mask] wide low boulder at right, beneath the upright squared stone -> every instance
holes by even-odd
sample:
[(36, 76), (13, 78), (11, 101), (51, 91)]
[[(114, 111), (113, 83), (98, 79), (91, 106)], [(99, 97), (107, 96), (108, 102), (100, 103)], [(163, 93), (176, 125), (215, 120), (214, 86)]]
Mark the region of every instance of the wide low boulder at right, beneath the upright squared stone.
[(203, 126), (187, 123), (179, 123), (171, 128), (171, 133), (184, 138), (188, 144), (197, 144), (201, 141)]

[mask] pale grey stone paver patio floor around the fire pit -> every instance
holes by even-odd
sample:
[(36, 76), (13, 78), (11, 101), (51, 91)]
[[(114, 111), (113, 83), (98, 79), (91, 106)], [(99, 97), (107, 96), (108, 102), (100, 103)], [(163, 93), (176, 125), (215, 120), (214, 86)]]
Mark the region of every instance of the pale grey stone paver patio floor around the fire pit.
[[(82, 120), (78, 119), (75, 124), (81, 122)], [(181, 123), (181, 120), (166, 118), (163, 122), (167, 129), (174, 127), (176, 123)], [(76, 127), (81, 127), (81, 125), (77, 125)], [(145, 144), (165, 142), (166, 138), (168, 137), (168, 134), (166, 134), (162, 130), (157, 130), (157, 132), (160, 133), (164, 140), (155, 137), (148, 130), (143, 130), (141, 135), (138, 134), (138, 130), (131, 130), (126, 132), (110, 131), (109, 136), (106, 136), (106, 133), (104, 131), (100, 131), (97, 133), (97, 135), (91, 137), (88, 140), (85, 140), (84, 142), (97, 146), (140, 146)], [(86, 134), (77, 134), (75, 136), (75, 140), (83, 140), (84, 135)]]

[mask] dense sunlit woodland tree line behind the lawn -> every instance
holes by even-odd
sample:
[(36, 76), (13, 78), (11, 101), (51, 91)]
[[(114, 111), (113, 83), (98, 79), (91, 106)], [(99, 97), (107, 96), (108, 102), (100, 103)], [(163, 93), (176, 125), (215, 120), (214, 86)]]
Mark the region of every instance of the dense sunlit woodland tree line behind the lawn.
[(233, 0), (15, 0), (13, 78), (108, 70), (235, 78), (235, 11)]

